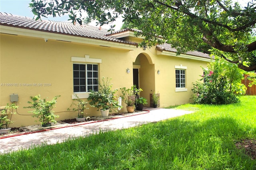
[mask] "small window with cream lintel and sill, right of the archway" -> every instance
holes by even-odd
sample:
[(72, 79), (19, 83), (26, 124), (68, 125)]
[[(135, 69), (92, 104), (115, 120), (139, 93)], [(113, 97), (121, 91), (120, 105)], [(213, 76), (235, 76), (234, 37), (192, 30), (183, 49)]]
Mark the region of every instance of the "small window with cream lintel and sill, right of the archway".
[(176, 92), (184, 92), (188, 91), (186, 88), (186, 66), (175, 66), (175, 84), (176, 84)]

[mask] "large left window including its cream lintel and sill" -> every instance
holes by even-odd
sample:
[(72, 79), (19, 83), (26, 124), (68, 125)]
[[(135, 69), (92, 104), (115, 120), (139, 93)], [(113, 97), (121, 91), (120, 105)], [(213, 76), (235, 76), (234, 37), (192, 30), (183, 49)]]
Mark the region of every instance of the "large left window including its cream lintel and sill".
[[(73, 92), (72, 99), (88, 98), (90, 90), (98, 91), (99, 64), (102, 62), (98, 58), (71, 57), (73, 62)], [(76, 95), (75, 95), (76, 94)]]

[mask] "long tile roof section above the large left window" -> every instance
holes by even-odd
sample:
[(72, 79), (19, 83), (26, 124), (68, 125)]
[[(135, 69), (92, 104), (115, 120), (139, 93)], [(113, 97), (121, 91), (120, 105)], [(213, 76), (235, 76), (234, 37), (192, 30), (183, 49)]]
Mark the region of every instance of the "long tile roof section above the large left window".
[(24, 16), (15, 16), (0, 12), (0, 24), (3, 26), (11, 26), (16, 28), (24, 28), (43, 32), (51, 32), (56, 34), (66, 34), (70, 36), (80, 36), (84, 38), (93, 38), (122, 44), (138, 46), (135, 42), (119, 40), (107, 36), (109, 32), (106, 29), (99, 30), (98, 27), (83, 25), (74, 25), (71, 22), (60, 22), (50, 20), (34, 20)]

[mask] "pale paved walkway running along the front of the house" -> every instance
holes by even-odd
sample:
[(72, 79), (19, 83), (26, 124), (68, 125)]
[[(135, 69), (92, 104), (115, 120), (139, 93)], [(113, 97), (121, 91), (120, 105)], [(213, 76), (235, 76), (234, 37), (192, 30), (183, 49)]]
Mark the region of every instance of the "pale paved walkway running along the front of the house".
[(164, 109), (164, 108), (144, 108), (149, 112), (137, 114), (126, 114), (113, 119), (104, 121), (87, 122), (86, 124), (67, 125), (63, 124), (54, 129), (48, 129), (41, 132), (22, 134), (12, 137), (0, 138), (0, 154), (12, 152), (20, 149), (28, 149), (34, 145), (56, 144), (64, 142), (67, 138), (76, 138), (78, 136), (87, 136), (99, 132), (99, 130), (116, 130), (139, 126), (151, 122), (158, 122), (184, 114), (190, 114), (191, 111)]

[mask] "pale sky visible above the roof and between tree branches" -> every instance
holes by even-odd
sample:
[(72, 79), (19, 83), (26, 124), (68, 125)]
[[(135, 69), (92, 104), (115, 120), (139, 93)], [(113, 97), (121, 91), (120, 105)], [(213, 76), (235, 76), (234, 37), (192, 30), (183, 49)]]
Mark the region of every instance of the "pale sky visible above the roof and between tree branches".
[[(240, 2), (241, 4), (247, 4), (248, 2), (252, 2), (252, 0), (235, 0)], [(33, 18), (34, 14), (31, 12), (31, 8), (29, 8), (28, 4), (31, 0), (0, 0), (0, 12), (6, 12), (13, 15), (18, 16), (26, 16), (29, 18)], [(245, 5), (244, 5), (245, 6)], [(67, 21), (68, 15), (52, 17), (48, 16), (48, 18), (42, 18), (42, 20), (55, 20), (55, 21)], [(119, 30), (122, 26), (122, 18), (119, 18), (112, 25), (116, 25), (115, 30)], [(92, 22), (90, 25), (96, 26), (96, 22)], [(110, 26), (105, 25), (102, 28), (109, 29)]]

